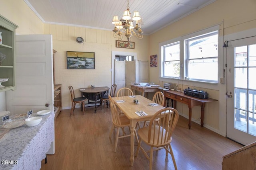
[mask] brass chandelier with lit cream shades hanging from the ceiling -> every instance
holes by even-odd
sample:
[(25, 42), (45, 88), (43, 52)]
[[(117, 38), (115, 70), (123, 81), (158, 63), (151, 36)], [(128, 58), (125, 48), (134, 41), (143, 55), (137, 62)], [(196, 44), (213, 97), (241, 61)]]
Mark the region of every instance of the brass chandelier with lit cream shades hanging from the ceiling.
[[(142, 19), (140, 18), (140, 14), (138, 11), (135, 11), (131, 19), (131, 13), (129, 8), (129, 0), (127, 0), (127, 9), (124, 11), (121, 20), (118, 20), (118, 16), (114, 16), (112, 21), (112, 23), (115, 24), (113, 30), (114, 37), (118, 40), (121, 40), (122, 37), (125, 35), (128, 42), (130, 41), (133, 35), (135, 35), (138, 39), (143, 38), (143, 31), (140, 27), (140, 25), (142, 25)], [(133, 26), (133, 21), (136, 21), (135, 27)]]

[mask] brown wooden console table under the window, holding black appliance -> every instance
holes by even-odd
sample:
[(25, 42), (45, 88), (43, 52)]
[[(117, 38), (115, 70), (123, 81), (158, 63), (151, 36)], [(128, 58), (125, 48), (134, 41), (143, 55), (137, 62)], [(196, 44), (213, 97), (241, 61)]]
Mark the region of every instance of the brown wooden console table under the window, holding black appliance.
[[(176, 101), (188, 105), (188, 129), (191, 129), (192, 107), (201, 106), (201, 127), (204, 127), (204, 106), (208, 102), (218, 101), (216, 99), (200, 99), (176, 91), (164, 91), (164, 97), (172, 100), (172, 107), (176, 107)], [(164, 104), (165, 106), (165, 104)], [(169, 106), (167, 106), (169, 107)]]

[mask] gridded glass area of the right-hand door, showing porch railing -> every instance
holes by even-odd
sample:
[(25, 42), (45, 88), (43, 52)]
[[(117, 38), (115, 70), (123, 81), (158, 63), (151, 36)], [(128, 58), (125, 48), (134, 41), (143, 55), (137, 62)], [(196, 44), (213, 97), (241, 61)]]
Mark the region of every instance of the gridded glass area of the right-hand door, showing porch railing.
[(256, 44), (235, 48), (235, 128), (256, 136)]

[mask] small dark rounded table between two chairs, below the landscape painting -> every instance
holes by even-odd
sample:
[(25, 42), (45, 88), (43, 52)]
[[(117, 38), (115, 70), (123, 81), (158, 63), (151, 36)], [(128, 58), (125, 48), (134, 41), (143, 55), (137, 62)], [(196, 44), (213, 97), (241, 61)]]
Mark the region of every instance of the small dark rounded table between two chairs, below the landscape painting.
[[(103, 92), (108, 94), (109, 87), (95, 87), (95, 88), (80, 88), (81, 96), (87, 98), (88, 100), (92, 100), (95, 103), (94, 113), (97, 110), (97, 100), (101, 99), (101, 95)], [(100, 101), (101, 102), (101, 101)], [(89, 101), (88, 101), (89, 103)], [(81, 107), (82, 108), (82, 107)]]

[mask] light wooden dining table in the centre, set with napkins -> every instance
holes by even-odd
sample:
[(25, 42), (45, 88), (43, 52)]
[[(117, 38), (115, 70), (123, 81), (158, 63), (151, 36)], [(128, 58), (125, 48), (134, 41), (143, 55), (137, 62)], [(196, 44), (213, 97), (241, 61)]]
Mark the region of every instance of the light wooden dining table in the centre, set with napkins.
[[(116, 106), (130, 119), (130, 131), (131, 131), (131, 155), (130, 163), (133, 166), (134, 162), (134, 131), (136, 130), (136, 123), (139, 121), (150, 120), (150, 118), (160, 109), (164, 109), (163, 106), (150, 106), (149, 104), (155, 103), (152, 100), (149, 100), (141, 95), (132, 96), (123, 96), (123, 97), (114, 97), (112, 98)], [(138, 100), (139, 104), (134, 103), (134, 99)], [(118, 102), (124, 100), (124, 102)], [(138, 116), (136, 111), (144, 111), (147, 113), (147, 116)]]

